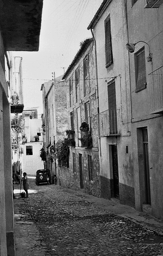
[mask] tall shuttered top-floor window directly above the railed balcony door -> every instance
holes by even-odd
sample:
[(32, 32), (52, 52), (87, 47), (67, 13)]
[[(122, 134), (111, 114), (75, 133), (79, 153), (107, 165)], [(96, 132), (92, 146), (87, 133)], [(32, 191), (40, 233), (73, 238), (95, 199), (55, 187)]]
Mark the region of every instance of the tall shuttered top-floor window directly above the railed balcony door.
[(105, 59), (106, 59), (106, 68), (107, 68), (113, 63), (110, 18), (105, 21)]

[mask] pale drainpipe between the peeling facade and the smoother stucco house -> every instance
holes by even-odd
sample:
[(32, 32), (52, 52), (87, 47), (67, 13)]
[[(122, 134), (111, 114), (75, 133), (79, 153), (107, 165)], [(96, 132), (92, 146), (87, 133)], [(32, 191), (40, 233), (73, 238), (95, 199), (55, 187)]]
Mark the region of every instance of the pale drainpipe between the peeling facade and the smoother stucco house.
[(97, 124), (98, 124), (98, 150), (101, 157), (101, 139), (100, 139), (100, 129), (99, 129), (99, 96), (98, 96), (98, 73), (97, 73), (97, 52), (96, 52), (96, 40), (91, 28), (92, 37), (95, 45), (95, 73), (96, 73), (96, 105), (97, 105)]

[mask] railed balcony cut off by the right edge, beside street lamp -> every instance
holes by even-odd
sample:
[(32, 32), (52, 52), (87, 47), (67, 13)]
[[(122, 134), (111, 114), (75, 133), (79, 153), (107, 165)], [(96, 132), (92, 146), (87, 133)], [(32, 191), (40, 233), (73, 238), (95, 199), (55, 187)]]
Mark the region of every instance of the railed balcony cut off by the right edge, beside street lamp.
[(149, 74), (150, 82), (150, 112), (163, 113), (163, 66)]

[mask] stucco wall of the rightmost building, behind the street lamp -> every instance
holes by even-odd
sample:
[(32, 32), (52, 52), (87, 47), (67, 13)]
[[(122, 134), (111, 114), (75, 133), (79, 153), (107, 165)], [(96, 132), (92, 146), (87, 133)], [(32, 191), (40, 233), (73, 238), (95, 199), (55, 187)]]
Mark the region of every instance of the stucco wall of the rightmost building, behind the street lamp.
[[(151, 213), (157, 218), (163, 218), (162, 204), (162, 166), (163, 166), (163, 145), (162, 116), (150, 113), (150, 89), (149, 73), (163, 65), (163, 4), (159, 8), (144, 8), (144, 1), (138, 0), (131, 8), (130, 1), (127, 0), (128, 9), (128, 36), (130, 43), (145, 41), (149, 44), (152, 53), (152, 63), (145, 60), (146, 67), (146, 88), (135, 93), (135, 64), (134, 53), (130, 53), (131, 72), (131, 97), (132, 97), (132, 136), (133, 136), (133, 168), (135, 183), (135, 205), (137, 210), (142, 210), (142, 205), (146, 204), (144, 162), (142, 150), (141, 128), (148, 129), (148, 149), (149, 149), (149, 171), (151, 189)], [(145, 59), (149, 55), (149, 47), (143, 42), (135, 46), (135, 53), (144, 46)], [(161, 70), (159, 71), (159, 76)], [(154, 75), (153, 75), (154, 77)], [(154, 80), (154, 82), (156, 82)], [(160, 83), (160, 88), (162, 84)], [(154, 84), (154, 90), (156, 89)], [(157, 93), (158, 88), (156, 89)], [(152, 96), (153, 97), (153, 96)]]

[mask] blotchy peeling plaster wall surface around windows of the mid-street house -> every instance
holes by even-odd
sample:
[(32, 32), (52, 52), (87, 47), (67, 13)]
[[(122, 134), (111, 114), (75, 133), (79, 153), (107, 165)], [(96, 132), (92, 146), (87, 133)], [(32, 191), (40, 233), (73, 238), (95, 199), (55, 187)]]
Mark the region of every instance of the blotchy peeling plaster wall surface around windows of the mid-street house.
[[(84, 80), (83, 60), (89, 56), (89, 76), (88, 80)], [(74, 129), (75, 129), (75, 142), (76, 147), (70, 147), (69, 154), (69, 168), (60, 168), (60, 181), (62, 186), (69, 188), (80, 188), (80, 172), (79, 172), (79, 154), (82, 154), (82, 180), (83, 188), (86, 193), (100, 197), (100, 173), (99, 173), (99, 156), (98, 156), (98, 127), (97, 127), (97, 104), (96, 104), (96, 76), (95, 76), (95, 63), (94, 63), (94, 44), (88, 46), (84, 53), (81, 54), (80, 59), (74, 64), (73, 69), (69, 72), (66, 79), (72, 77), (73, 89), (72, 89), (72, 107), (69, 107), (69, 113), (74, 114)], [(80, 89), (78, 94), (78, 102), (76, 102), (76, 91), (75, 91), (75, 70), (80, 68)], [(81, 137), (79, 127), (82, 122), (86, 122), (85, 115), (85, 103), (90, 103), (91, 113), (91, 131), (93, 148), (81, 147), (81, 142), (78, 138)], [(78, 112), (78, 120), (77, 120)], [(69, 114), (70, 115), (70, 114)], [(68, 129), (71, 129), (70, 119)], [(73, 158), (72, 153), (75, 153), (75, 170), (73, 172)], [(93, 162), (93, 181), (89, 180), (88, 170), (88, 155), (92, 156)]]

